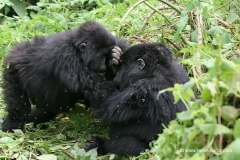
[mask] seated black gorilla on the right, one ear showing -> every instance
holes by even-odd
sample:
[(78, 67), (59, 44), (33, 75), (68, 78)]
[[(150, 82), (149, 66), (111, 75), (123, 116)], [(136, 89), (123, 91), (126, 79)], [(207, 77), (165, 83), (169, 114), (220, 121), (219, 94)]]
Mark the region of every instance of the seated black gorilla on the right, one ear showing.
[(163, 44), (135, 45), (121, 60), (121, 69), (114, 78), (119, 90), (110, 92), (105, 100), (95, 97), (99, 101), (92, 104), (96, 116), (110, 123), (110, 139), (91, 137), (85, 149), (98, 147), (99, 154), (139, 155), (163, 131), (162, 124), (167, 126), (176, 118), (176, 112), (186, 109), (182, 101), (174, 103), (170, 92), (157, 99), (158, 92), (175, 83), (183, 84), (189, 78), (172, 61), (172, 53)]

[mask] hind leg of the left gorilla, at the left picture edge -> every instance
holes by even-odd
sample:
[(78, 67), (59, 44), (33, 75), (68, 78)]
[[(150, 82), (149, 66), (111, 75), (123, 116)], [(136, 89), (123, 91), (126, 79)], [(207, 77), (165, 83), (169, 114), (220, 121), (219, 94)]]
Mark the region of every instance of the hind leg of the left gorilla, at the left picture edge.
[(2, 124), (4, 132), (12, 129), (24, 130), (26, 119), (31, 111), (29, 98), (22, 88), (19, 76), (16, 71), (9, 68), (3, 73), (3, 94), (6, 103), (6, 111), (8, 112)]

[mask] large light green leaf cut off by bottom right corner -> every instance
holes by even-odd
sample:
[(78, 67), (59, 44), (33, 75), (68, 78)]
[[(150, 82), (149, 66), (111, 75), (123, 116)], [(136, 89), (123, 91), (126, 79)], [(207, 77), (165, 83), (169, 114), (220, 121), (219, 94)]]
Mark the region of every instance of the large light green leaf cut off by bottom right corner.
[[(236, 139), (232, 143), (230, 143), (226, 148), (225, 152), (223, 152), (223, 160), (237, 160), (240, 157), (240, 139)], [(228, 151), (228, 152), (226, 152)]]

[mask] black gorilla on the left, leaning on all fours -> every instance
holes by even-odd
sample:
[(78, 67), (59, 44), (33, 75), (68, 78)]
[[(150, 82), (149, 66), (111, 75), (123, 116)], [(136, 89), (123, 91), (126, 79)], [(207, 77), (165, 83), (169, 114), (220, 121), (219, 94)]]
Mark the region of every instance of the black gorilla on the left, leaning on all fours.
[[(95, 85), (92, 74), (106, 72), (104, 77), (113, 78), (110, 61), (117, 64), (118, 54), (127, 47), (96, 22), (16, 45), (4, 61), (2, 87), (8, 115), (2, 130), (49, 121), (78, 100), (88, 100), (85, 88)], [(31, 104), (36, 105), (32, 111)]]

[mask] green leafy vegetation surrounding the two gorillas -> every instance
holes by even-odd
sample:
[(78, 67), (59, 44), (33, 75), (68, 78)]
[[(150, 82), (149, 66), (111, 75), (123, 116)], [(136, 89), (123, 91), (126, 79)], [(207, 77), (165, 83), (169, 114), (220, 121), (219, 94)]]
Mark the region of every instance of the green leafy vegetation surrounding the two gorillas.
[[(188, 110), (178, 114), (150, 150), (129, 158), (235, 160), (240, 156), (239, 15), (238, 0), (4, 0), (0, 57), (17, 42), (76, 28), (87, 20), (99, 21), (132, 44), (164, 42), (192, 77), (167, 89)], [(2, 95), (0, 99), (2, 118)], [(26, 133), (0, 131), (0, 158), (117, 159), (82, 149), (89, 135), (105, 135), (107, 127), (94, 123), (81, 104), (68, 118), (59, 115), (39, 128), (28, 124)]]

